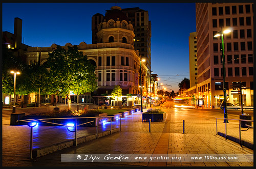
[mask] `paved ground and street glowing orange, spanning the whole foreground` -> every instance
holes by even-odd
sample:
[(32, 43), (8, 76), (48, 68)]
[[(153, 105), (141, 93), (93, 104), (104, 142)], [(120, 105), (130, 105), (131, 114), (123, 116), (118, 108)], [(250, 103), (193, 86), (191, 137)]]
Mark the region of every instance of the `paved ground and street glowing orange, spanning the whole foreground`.
[[(148, 132), (148, 122), (142, 122), (142, 115), (133, 114), (122, 118), (121, 132), (63, 149), (34, 161), (28, 159), (30, 128), (10, 126), (7, 121), (3, 121), (3, 166), (253, 166), (250, 158), (242, 157), (235, 161), (61, 162), (61, 154), (253, 155), (253, 150), (216, 135), (215, 118), (223, 118), (223, 114), (218, 111), (163, 110), (167, 112), (166, 121), (151, 123), (151, 132)], [(239, 119), (239, 116), (229, 115), (229, 118)], [(182, 133), (183, 120), (185, 133)], [(218, 121), (219, 131), (223, 131), (223, 126), (225, 128), (225, 124)], [(229, 122), (227, 126), (228, 135), (239, 134), (236, 122)], [(118, 127), (119, 122), (113, 122), (113, 128)], [(78, 137), (96, 132), (94, 127), (84, 129), (86, 127), (78, 128)], [(109, 130), (109, 123), (100, 128), (100, 131), (105, 130)], [(38, 126), (33, 131), (34, 148), (74, 138), (74, 133), (68, 132), (66, 127)], [(252, 129), (241, 133), (242, 139), (249, 139), (253, 143)]]

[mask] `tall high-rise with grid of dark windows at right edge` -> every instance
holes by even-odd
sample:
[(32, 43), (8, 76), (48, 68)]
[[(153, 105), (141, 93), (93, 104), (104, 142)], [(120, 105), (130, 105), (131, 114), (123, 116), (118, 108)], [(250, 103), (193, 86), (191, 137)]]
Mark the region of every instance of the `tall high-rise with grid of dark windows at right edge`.
[(208, 108), (223, 102), (222, 46), (224, 35), (225, 86), (227, 102), (241, 105), (239, 94), (231, 94), (233, 84), (242, 82), (244, 106), (253, 105), (253, 4), (196, 3), (198, 98)]

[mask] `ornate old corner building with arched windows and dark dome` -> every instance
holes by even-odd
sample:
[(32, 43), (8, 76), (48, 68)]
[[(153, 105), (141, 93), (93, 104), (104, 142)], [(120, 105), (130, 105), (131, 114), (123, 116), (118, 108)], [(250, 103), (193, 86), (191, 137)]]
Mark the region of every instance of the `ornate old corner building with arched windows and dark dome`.
[[(99, 21), (102, 16), (97, 14), (93, 18), (95, 20), (97, 18), (97, 21)], [(93, 42), (97, 43), (81, 42), (77, 45), (78, 50), (87, 55), (88, 60), (96, 66), (98, 90), (92, 94), (83, 94), (81, 97), (71, 96), (72, 101), (99, 104), (109, 100), (111, 105), (117, 105), (117, 100), (112, 100), (110, 96), (115, 85), (119, 85), (122, 88), (122, 103), (130, 106), (140, 103), (140, 97), (138, 97), (140, 86), (143, 84), (146, 87), (149, 86), (147, 82), (149, 77), (146, 65), (143, 62), (140, 64), (140, 52), (134, 48), (135, 34), (133, 30), (134, 27), (129, 18), (121, 11), (120, 7), (115, 6), (103, 16), (102, 21), (97, 25), (97, 31), (93, 31), (93, 33), (96, 33)], [(68, 49), (68, 46), (73, 45), (66, 43), (62, 47)], [(55, 48), (56, 44), (52, 44), (50, 47), (28, 48), (27, 63), (29, 64), (31, 61), (38, 62), (40, 55), (40, 63), (45, 64), (49, 57), (48, 52), (52, 52)], [(139, 82), (140, 68), (143, 77), (142, 85)], [(142, 94), (144, 92), (147, 92), (147, 88), (143, 88)], [(86, 99), (82, 101), (81, 98)], [(63, 99), (58, 98), (58, 100), (62, 102)]]

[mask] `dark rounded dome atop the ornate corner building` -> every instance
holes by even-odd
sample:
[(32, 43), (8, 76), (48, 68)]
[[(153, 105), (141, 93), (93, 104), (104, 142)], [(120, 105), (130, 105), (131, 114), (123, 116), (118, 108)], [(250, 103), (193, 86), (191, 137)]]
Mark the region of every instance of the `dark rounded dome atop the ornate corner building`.
[(117, 6), (111, 7), (111, 10), (106, 11), (103, 20), (105, 19), (106, 22), (108, 22), (110, 19), (117, 21), (117, 18), (119, 18), (119, 21), (126, 20), (129, 22), (128, 17), (121, 11), (121, 8)]

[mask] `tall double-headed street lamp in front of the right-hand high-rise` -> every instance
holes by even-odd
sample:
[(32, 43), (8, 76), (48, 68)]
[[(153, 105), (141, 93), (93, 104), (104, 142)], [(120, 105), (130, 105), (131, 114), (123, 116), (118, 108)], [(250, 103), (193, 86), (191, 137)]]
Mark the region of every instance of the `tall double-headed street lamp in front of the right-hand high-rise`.
[(223, 34), (228, 34), (230, 33), (231, 31), (230, 30), (224, 30), (222, 31), (221, 29), (221, 32), (217, 33), (214, 37), (219, 37), (221, 36), (221, 44), (222, 44), (222, 75), (223, 75), (223, 95), (224, 95), (224, 101), (223, 101), (223, 107), (224, 107), (224, 123), (228, 123), (228, 120), (227, 119), (227, 104), (226, 104), (226, 101), (227, 101), (227, 96), (226, 96), (226, 87), (225, 87), (225, 56), (224, 56), (224, 40), (223, 40)]

